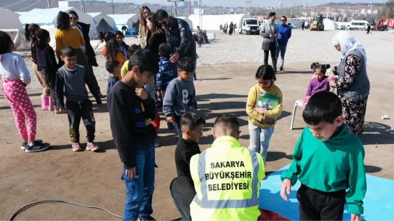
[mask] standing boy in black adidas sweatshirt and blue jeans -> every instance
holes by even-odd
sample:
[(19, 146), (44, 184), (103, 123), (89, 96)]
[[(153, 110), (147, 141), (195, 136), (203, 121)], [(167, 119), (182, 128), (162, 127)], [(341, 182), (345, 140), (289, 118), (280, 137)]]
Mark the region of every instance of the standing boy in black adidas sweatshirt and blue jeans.
[(156, 55), (147, 49), (133, 53), (128, 73), (108, 95), (112, 137), (124, 164), (124, 221), (156, 221), (151, 217), (155, 189), (155, 101), (144, 85), (159, 72)]

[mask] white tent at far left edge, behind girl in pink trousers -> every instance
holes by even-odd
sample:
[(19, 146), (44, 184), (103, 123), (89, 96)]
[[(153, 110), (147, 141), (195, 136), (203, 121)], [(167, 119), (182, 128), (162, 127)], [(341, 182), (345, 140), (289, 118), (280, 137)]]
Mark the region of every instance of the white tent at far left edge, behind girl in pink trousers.
[(30, 47), (23, 35), (24, 29), (19, 21), (19, 16), (19, 14), (13, 11), (0, 8), (0, 30), (11, 36), (16, 50), (27, 50)]

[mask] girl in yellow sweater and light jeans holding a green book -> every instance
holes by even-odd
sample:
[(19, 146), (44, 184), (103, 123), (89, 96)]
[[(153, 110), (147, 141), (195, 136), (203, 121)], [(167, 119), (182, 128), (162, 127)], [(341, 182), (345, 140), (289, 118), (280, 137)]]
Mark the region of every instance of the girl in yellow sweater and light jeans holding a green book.
[[(271, 65), (260, 66), (256, 72), (256, 79), (257, 84), (250, 88), (246, 103), (246, 113), (249, 115), (249, 149), (260, 153), (266, 165), (269, 140), (274, 133), (276, 118), (282, 113), (282, 91), (274, 83), (276, 77)], [(279, 97), (276, 107), (263, 104), (267, 109), (263, 110), (256, 106), (259, 95), (264, 93)]]

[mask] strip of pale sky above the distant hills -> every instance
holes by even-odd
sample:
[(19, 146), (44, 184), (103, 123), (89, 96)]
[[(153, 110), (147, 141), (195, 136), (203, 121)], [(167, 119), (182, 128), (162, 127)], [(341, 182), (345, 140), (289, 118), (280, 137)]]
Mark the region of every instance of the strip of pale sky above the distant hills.
[[(106, 0), (106, 1), (111, 1), (111, 0)], [(114, 0), (115, 2), (126, 2), (126, 0)], [(150, 2), (150, 3), (160, 3), (160, 4), (168, 4), (167, 0), (127, 0), (128, 2), (136, 3), (136, 4), (142, 4), (145, 2)], [(188, 1), (187, 5), (189, 5)], [(192, 0), (192, 5), (194, 0)], [(198, 1), (198, 0), (197, 0)], [(369, 3), (371, 1), (373, 2), (378, 2), (378, 3), (384, 3), (387, 2), (387, 0), (294, 0), (295, 5), (299, 5), (300, 2), (302, 1), (302, 5), (319, 5), (319, 4), (324, 4), (327, 2), (361, 2), (361, 3)], [(282, 0), (283, 6), (284, 7), (290, 7), (292, 5), (293, 0)], [(252, 0), (252, 5), (255, 7), (263, 7), (263, 6), (278, 6), (279, 0)], [(202, 4), (204, 5), (211, 5), (211, 6), (228, 6), (228, 7), (236, 7), (236, 6), (243, 6), (244, 1), (243, 0), (202, 0)]]

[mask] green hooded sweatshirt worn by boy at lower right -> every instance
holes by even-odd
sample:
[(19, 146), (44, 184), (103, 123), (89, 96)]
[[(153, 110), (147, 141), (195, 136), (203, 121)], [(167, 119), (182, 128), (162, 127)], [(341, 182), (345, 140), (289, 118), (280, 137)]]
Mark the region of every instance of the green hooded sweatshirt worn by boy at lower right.
[(362, 199), (366, 192), (364, 147), (361, 140), (342, 124), (336, 135), (327, 141), (313, 137), (309, 127), (299, 136), (293, 153), (293, 162), (282, 175), (292, 186), (297, 179), (303, 185), (318, 191), (346, 192), (347, 211), (363, 214)]

